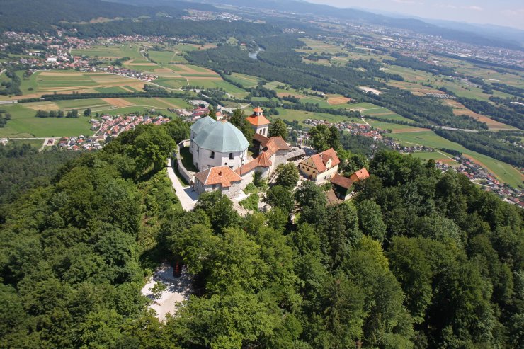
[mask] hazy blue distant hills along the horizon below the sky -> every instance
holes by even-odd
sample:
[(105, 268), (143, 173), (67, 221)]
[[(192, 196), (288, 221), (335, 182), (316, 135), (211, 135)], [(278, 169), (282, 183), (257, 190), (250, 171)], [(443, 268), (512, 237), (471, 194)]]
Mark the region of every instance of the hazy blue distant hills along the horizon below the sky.
[[(98, 18), (158, 18), (165, 23), (166, 18), (181, 18), (187, 14), (188, 9), (216, 12), (223, 11), (220, 7), (225, 5), (242, 8), (244, 13), (248, 8), (263, 8), (302, 15), (329, 16), (346, 21), (413, 30), (474, 45), (523, 49), (523, 40), (516, 40), (522, 33), (521, 30), (511, 33), (510, 30), (501, 31), (500, 28), (477, 28), (452, 22), (435, 25), (438, 23), (384, 16), (352, 8), (311, 4), (300, 0), (3, 0), (0, 7), (0, 30), (52, 30), (56, 25), (70, 26), (71, 23), (85, 23)], [(253, 15), (259, 13), (254, 12)], [(271, 18), (266, 19), (271, 21)], [(276, 21), (283, 23), (281, 18), (275, 18), (275, 23)], [(444, 28), (445, 26), (448, 28)]]

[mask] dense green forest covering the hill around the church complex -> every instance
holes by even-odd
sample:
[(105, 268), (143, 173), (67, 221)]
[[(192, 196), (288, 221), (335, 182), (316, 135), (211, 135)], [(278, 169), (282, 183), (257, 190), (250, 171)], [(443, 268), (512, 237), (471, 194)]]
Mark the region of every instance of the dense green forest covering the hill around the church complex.
[[(523, 346), (518, 207), (433, 161), (341, 151), (372, 173), (349, 202), (278, 179), (269, 212), (218, 192), (183, 212), (164, 164), (185, 137), (139, 126), (3, 206), (0, 347)], [(139, 290), (164, 260), (198, 295), (160, 323)]]

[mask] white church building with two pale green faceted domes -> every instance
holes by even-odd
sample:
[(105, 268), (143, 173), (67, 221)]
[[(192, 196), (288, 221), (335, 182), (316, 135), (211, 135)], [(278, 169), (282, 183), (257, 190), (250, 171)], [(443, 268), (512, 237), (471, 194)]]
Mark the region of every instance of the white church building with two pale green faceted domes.
[(199, 171), (219, 166), (235, 170), (246, 163), (248, 147), (246, 137), (227, 120), (206, 116), (190, 127), (189, 149)]

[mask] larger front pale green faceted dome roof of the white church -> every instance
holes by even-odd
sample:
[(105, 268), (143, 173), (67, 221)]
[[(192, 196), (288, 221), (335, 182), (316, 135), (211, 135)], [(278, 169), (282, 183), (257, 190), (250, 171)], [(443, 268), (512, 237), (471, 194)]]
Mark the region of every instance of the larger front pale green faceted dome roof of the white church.
[(203, 127), (193, 142), (202, 149), (219, 153), (244, 151), (249, 147), (249, 142), (244, 134), (226, 120), (212, 122)]

